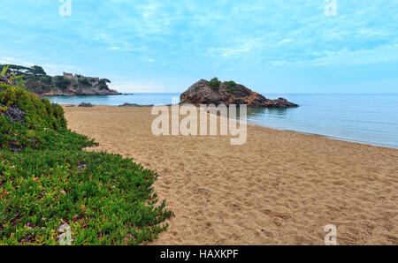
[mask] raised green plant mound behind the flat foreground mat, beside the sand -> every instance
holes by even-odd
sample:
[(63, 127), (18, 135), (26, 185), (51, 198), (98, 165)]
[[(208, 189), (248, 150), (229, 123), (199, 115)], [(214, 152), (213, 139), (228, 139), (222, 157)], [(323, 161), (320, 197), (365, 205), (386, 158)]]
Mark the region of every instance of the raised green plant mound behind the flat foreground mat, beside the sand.
[[(0, 85), (0, 149), (78, 150), (96, 145), (94, 140), (66, 129), (64, 109), (19, 86)], [(5, 112), (16, 105), (25, 112), (25, 124), (14, 123)]]

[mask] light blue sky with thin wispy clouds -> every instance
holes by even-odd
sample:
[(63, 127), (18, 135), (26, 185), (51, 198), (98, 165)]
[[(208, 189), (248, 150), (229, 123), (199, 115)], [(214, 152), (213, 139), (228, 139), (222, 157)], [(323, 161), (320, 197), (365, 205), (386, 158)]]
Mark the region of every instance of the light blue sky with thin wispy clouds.
[[(0, 0), (0, 63), (180, 93), (233, 79), (264, 94), (398, 93), (398, 1)], [(332, 0), (331, 0), (332, 1)]]

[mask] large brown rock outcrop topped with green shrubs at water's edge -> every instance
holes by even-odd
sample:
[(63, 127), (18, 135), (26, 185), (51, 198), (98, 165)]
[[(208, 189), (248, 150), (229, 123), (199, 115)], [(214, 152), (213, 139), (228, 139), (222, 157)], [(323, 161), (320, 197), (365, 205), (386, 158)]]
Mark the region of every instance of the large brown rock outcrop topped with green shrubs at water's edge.
[(211, 86), (210, 82), (201, 79), (186, 92), (181, 94), (181, 103), (191, 103), (196, 106), (200, 104), (247, 104), (248, 107), (260, 108), (292, 108), (297, 104), (284, 98), (278, 100), (266, 99), (262, 94), (250, 90), (246, 86), (235, 84), (233, 81), (219, 83), (219, 86)]

